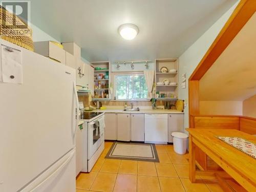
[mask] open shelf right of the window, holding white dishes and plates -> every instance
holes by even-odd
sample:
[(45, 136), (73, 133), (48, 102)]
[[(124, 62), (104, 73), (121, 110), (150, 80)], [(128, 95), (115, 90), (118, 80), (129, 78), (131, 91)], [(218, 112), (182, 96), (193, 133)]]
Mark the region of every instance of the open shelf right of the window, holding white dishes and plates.
[(178, 58), (156, 59), (156, 98), (160, 100), (178, 99)]

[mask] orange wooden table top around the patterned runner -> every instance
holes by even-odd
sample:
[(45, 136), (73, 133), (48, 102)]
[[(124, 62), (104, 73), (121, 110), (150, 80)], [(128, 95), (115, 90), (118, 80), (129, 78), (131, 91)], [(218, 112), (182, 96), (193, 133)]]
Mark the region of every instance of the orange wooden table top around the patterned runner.
[(186, 129), (197, 141), (206, 146), (211, 152), (218, 155), (231, 168), (236, 169), (256, 184), (256, 159), (228, 145), (215, 136), (242, 137), (256, 142), (256, 137), (238, 130), (216, 129)]

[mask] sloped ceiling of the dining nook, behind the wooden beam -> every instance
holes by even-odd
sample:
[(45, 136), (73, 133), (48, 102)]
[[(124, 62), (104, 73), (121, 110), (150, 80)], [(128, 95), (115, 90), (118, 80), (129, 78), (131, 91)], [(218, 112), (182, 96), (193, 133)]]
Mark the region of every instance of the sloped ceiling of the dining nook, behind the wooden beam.
[(243, 101), (256, 94), (256, 14), (200, 80), (202, 101)]

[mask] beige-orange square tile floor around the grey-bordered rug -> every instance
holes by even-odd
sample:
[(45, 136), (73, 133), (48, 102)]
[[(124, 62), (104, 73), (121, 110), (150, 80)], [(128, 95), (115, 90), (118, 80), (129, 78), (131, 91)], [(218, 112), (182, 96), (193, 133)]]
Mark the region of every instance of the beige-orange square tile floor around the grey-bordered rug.
[(159, 163), (105, 159), (111, 145), (112, 142), (105, 142), (92, 172), (81, 173), (77, 178), (77, 192), (223, 191), (218, 184), (191, 183), (188, 154), (176, 154), (173, 145), (156, 145)]

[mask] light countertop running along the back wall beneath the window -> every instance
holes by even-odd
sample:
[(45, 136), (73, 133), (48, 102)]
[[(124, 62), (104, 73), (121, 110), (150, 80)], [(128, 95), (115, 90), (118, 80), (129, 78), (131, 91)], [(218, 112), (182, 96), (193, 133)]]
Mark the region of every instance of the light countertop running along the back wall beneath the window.
[(123, 109), (106, 109), (106, 110), (93, 110), (93, 112), (104, 112), (104, 113), (178, 113), (183, 112), (177, 110), (153, 110), (153, 109), (140, 109), (140, 111), (123, 111)]

